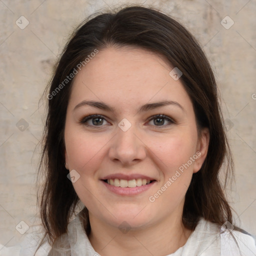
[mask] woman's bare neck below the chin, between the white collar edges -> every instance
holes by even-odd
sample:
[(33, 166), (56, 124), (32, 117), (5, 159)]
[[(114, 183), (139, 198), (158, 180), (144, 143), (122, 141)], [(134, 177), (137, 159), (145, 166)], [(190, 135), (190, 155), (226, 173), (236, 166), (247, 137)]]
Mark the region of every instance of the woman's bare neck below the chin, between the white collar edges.
[(139, 229), (131, 228), (126, 233), (90, 213), (89, 219), (90, 243), (102, 256), (168, 255), (183, 246), (192, 232), (183, 226), (180, 215), (174, 214), (160, 223)]

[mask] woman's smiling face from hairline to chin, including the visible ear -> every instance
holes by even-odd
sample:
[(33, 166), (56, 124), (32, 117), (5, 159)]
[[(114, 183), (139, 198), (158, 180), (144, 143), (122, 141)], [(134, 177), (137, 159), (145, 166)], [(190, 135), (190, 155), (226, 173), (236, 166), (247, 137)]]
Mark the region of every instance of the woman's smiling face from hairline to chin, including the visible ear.
[(192, 102), (171, 69), (152, 52), (109, 47), (74, 78), (65, 161), (98, 221), (139, 228), (182, 214), (208, 133), (198, 137)]

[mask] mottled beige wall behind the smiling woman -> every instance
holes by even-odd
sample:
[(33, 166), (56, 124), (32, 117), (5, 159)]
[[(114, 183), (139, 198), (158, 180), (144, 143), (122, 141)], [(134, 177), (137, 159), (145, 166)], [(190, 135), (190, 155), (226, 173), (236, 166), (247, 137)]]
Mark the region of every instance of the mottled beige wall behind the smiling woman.
[[(143, 1), (182, 22), (210, 59), (235, 161), (236, 184), (228, 193), (240, 219), (236, 223), (256, 234), (256, 2)], [(67, 36), (95, 10), (143, 1), (0, 0), (1, 244), (17, 242), (22, 235), (15, 226), (21, 220), (28, 226), (34, 221), (38, 143), (45, 117), (45, 99), (39, 102), (39, 98)], [(24, 29), (15, 23), (21, 15), (29, 21)], [(229, 29), (220, 23), (226, 15), (234, 21)], [(226, 25), (230, 21), (224, 19)], [(24, 24), (22, 19), (19, 25)], [(19, 121), (21, 118), (27, 123)], [(20, 125), (24, 125), (23, 131)]]

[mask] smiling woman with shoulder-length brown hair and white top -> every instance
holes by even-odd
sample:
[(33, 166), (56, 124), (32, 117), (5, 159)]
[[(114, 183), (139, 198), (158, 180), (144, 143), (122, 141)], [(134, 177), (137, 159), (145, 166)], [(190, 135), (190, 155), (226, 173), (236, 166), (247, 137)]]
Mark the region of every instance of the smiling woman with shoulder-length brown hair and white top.
[(219, 179), (232, 159), (212, 70), (178, 22), (139, 6), (85, 21), (47, 99), (31, 253), (256, 255)]

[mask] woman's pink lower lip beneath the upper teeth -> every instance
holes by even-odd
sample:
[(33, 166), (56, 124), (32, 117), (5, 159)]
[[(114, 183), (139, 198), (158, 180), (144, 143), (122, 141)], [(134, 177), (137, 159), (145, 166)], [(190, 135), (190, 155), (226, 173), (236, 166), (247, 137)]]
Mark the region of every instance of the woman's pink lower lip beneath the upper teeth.
[(106, 186), (107, 189), (109, 189), (111, 192), (114, 192), (119, 195), (136, 195), (139, 193), (142, 193), (143, 191), (146, 191), (149, 189), (156, 181), (153, 181), (149, 184), (146, 185), (141, 185), (141, 186), (135, 186), (135, 187), (120, 187), (120, 186), (113, 186), (105, 181), (101, 180), (103, 184)]

